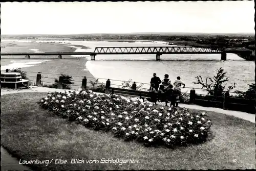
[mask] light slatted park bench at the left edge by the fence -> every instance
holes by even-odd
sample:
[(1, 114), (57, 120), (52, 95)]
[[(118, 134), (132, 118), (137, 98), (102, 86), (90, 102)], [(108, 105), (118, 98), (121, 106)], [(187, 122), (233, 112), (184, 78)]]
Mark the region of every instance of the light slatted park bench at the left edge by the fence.
[(29, 87), (29, 81), (22, 79), (22, 76), (20, 76), (20, 73), (18, 73), (18, 72), (1, 73), (1, 84), (2, 85), (15, 84), (15, 89), (17, 89), (18, 83), (27, 83), (28, 87)]

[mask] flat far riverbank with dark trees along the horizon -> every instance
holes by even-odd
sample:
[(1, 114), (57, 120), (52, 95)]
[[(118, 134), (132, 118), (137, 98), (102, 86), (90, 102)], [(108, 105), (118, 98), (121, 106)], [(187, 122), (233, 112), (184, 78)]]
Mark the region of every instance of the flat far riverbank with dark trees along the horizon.
[(76, 39), (76, 40), (152, 40), (167, 41), (183, 45), (208, 45), (221, 47), (246, 47), (254, 50), (252, 34), (78, 34), (78, 35), (1, 35), (14, 39)]

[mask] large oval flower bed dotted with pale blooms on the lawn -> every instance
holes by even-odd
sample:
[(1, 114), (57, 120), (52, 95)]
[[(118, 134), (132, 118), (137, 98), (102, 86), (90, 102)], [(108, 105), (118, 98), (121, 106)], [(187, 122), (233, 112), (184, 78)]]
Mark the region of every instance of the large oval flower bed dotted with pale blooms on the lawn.
[(147, 145), (203, 142), (211, 127), (205, 113), (188, 113), (185, 108), (178, 112), (176, 108), (91, 90), (48, 93), (39, 104), (88, 128), (111, 131), (117, 137), (136, 139)]

